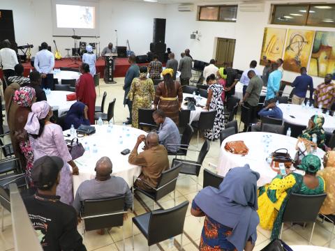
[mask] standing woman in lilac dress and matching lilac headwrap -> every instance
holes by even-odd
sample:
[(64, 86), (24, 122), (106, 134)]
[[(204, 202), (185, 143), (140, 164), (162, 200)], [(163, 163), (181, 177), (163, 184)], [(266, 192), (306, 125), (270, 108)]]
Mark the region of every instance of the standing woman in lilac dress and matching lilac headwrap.
[[(57, 124), (50, 122), (52, 109), (46, 101), (36, 102), (31, 106), (28, 120), (24, 129), (29, 133), (31, 148), (34, 151), (34, 160), (45, 155), (57, 156), (64, 160), (61, 169), (61, 179), (57, 186), (57, 195), (61, 201), (71, 205), (73, 202), (72, 176), (79, 174), (79, 169), (73, 162), (63, 136), (63, 130)], [(72, 173), (70, 172), (70, 165)]]

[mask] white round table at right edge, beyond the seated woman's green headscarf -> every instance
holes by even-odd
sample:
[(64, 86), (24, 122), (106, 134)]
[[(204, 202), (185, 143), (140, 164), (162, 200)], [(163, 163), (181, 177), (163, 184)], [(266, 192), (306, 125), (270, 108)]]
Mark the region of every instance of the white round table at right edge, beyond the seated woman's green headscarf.
[[(299, 126), (308, 126), (308, 119), (315, 114), (320, 114), (321, 110), (314, 107), (303, 107), (302, 105), (279, 104), (279, 108), (283, 112), (283, 121)], [(294, 118), (292, 118), (294, 116)], [(335, 117), (322, 114), (325, 118), (323, 128), (326, 132), (335, 130)]]

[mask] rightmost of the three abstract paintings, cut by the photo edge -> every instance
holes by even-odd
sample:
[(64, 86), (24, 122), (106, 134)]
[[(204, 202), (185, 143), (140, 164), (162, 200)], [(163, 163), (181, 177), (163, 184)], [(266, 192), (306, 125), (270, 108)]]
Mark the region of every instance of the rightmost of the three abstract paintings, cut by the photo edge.
[(316, 31), (308, 73), (318, 77), (335, 73), (335, 32)]

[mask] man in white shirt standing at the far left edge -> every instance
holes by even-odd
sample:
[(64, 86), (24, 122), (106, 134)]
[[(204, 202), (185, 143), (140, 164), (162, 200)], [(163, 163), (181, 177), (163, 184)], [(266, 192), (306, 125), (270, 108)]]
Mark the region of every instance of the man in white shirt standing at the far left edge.
[(0, 50), (0, 65), (2, 67), (3, 75), (8, 78), (15, 75), (14, 67), (19, 62), (17, 61), (15, 50), (10, 49), (9, 40), (3, 40), (2, 45), (3, 48)]

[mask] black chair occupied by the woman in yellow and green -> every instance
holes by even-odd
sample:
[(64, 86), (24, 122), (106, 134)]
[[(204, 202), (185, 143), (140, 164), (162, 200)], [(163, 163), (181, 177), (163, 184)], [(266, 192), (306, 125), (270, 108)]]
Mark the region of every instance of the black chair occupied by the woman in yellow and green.
[[(284, 209), (283, 220), (281, 224), (281, 233), (283, 231), (284, 222), (313, 222), (311, 236), (308, 243), (308, 245), (311, 245), (313, 231), (315, 227), (315, 220), (318, 217), (320, 208), (326, 197), (326, 194), (298, 195), (292, 193)], [(281, 234), (279, 238), (281, 238)]]

